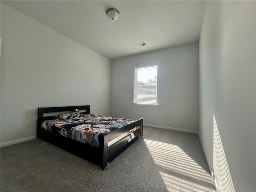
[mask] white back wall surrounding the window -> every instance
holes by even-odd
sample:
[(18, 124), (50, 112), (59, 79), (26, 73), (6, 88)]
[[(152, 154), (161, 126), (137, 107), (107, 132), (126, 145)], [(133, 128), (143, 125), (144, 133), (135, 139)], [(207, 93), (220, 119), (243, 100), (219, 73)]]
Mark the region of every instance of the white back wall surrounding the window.
[[(192, 43), (113, 60), (110, 115), (144, 118), (145, 124), (197, 131), (198, 52), (198, 43)], [(159, 61), (159, 105), (133, 106), (133, 66), (155, 61)]]

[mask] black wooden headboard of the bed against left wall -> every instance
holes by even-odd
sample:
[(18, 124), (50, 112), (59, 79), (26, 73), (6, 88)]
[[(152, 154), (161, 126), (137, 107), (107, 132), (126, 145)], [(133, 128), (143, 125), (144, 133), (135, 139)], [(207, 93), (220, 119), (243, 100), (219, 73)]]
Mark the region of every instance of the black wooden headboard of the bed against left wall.
[[(75, 109), (83, 110), (82, 114), (90, 114), (90, 105), (67, 106), (67, 107), (40, 107), (37, 114), (37, 131), (44, 120), (53, 119), (52, 113), (73, 112)], [(47, 115), (50, 114), (50, 115)]]

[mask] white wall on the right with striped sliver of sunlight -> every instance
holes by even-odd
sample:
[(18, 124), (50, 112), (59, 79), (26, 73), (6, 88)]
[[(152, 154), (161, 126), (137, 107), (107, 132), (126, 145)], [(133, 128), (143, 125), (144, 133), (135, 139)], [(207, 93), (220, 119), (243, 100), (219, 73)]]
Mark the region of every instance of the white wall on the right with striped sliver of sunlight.
[(225, 153), (217, 158), (226, 159), (234, 190), (243, 192), (256, 191), (255, 18), (255, 1), (209, 1), (200, 36), (202, 146), (210, 168), (218, 171), (213, 166), (214, 115), (222, 141), (217, 150)]

